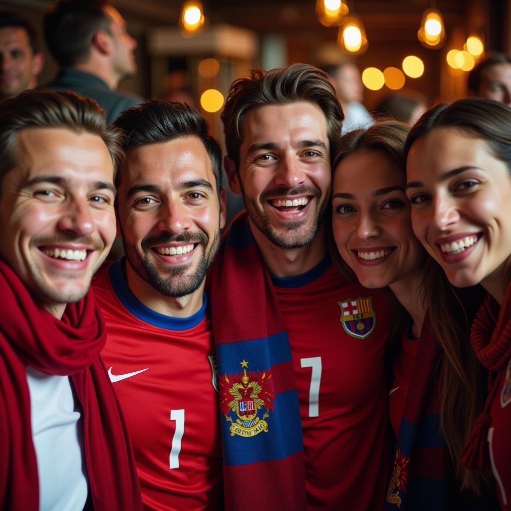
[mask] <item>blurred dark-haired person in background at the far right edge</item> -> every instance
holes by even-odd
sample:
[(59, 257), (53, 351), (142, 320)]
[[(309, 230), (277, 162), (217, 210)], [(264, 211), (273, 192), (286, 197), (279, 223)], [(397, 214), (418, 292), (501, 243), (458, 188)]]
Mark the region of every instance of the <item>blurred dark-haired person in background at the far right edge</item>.
[(469, 73), (467, 88), (469, 96), (511, 106), (511, 57), (504, 53), (486, 56)]

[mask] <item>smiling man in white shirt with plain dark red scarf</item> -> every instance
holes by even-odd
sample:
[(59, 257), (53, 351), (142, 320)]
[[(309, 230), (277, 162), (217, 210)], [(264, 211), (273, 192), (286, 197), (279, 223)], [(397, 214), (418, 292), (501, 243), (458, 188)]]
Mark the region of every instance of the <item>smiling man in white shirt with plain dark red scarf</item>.
[(122, 156), (94, 101), (33, 90), (0, 105), (2, 509), (141, 508), (88, 292)]

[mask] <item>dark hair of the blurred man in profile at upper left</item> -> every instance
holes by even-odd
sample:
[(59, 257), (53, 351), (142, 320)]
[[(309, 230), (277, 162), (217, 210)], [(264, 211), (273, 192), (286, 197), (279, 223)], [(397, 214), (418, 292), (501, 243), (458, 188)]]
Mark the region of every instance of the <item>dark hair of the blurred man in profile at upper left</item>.
[(110, 33), (106, 5), (104, 0), (61, 0), (45, 14), (44, 38), (61, 66), (85, 61), (96, 32)]

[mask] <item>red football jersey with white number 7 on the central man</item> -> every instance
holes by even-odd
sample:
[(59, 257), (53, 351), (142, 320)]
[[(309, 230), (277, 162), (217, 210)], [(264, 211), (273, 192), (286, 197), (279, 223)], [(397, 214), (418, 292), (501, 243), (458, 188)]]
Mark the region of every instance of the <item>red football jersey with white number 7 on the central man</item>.
[(328, 258), (303, 275), (272, 280), (296, 371), (308, 507), (382, 509), (388, 300), (346, 282)]

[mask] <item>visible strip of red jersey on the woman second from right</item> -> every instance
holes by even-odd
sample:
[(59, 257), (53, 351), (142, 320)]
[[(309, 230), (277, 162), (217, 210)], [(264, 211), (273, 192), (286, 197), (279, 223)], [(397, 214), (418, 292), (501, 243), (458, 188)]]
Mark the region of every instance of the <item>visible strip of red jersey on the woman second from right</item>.
[(412, 338), (409, 332), (403, 332), (401, 338), (401, 351), (398, 360), (394, 364), (394, 381), (390, 385), (388, 399), (388, 415), (394, 435), (398, 436), (401, 425), (401, 417), (405, 408), (408, 388), (412, 379), (413, 367), (421, 339)]

